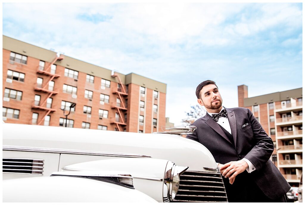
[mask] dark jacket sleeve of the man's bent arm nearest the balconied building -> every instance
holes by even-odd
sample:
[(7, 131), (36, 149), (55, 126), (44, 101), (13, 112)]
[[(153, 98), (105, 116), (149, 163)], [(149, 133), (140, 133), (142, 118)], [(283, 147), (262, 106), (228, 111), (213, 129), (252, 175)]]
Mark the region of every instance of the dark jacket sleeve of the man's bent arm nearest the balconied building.
[(246, 156), (244, 156), (244, 158), (252, 162), (255, 168), (259, 171), (270, 159), (274, 150), (274, 145), (271, 137), (267, 135), (262, 125), (260, 125), (249, 109), (248, 118), (253, 131), (254, 144), (252, 149), (246, 154)]

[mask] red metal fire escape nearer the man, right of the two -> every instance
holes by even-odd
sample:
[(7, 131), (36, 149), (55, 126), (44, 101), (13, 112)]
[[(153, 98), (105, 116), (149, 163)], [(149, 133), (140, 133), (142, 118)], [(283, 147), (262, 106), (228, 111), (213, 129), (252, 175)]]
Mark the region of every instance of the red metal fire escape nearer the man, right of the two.
[(125, 86), (122, 83), (122, 81), (120, 79), (120, 76), (116, 72), (112, 72), (111, 77), (114, 77), (114, 78), (116, 77), (117, 80), (119, 81), (118, 88), (113, 91), (113, 94), (117, 94), (118, 99), (120, 99), (120, 102), (115, 102), (111, 106), (111, 108), (117, 109), (120, 117), (119, 118), (114, 118), (114, 120), (112, 120), (111, 123), (115, 123), (117, 125), (118, 131), (122, 131), (122, 129), (120, 128), (120, 125), (122, 125), (122, 126), (127, 125), (125, 123), (123, 115), (122, 115), (123, 110), (127, 111), (127, 108), (126, 108), (125, 103), (123, 101), (123, 96), (127, 96), (128, 94), (126, 93)]

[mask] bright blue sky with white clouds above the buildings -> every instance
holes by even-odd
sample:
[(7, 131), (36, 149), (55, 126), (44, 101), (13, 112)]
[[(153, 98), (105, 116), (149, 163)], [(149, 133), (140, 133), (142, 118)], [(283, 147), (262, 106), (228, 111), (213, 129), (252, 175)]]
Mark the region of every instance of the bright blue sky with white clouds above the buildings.
[(3, 3), (3, 34), (166, 83), (175, 125), (204, 80), (226, 107), (302, 87), (302, 3)]

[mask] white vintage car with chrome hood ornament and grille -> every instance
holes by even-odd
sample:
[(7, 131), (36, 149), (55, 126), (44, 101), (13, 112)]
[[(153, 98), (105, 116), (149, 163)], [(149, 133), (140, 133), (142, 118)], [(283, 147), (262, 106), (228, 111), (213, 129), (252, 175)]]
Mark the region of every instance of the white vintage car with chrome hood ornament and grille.
[(227, 202), (210, 151), (177, 135), (196, 127), (153, 134), (2, 127), (3, 202)]

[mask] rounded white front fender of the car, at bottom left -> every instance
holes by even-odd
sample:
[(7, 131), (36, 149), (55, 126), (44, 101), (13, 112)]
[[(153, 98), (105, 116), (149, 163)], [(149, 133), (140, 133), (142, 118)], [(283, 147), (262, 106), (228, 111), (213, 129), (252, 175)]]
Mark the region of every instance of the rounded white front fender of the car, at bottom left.
[(9, 179), (2, 186), (3, 202), (157, 202), (136, 189), (78, 177)]

